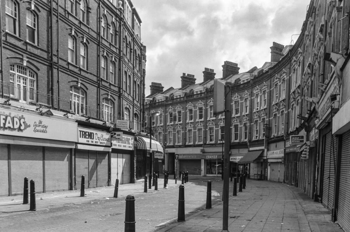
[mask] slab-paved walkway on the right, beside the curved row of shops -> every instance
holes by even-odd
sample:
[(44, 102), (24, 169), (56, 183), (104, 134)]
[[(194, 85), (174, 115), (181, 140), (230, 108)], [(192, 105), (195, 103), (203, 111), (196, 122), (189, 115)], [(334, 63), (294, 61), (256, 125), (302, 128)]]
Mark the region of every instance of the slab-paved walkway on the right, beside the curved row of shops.
[[(232, 182), (231, 182), (232, 183)], [(300, 189), (271, 181), (246, 180), (246, 189), (232, 196), (230, 184), (230, 232), (333, 232), (343, 230), (331, 222), (330, 212)], [(186, 201), (186, 199), (185, 199)], [(158, 232), (222, 231), (223, 202), (175, 222)]]

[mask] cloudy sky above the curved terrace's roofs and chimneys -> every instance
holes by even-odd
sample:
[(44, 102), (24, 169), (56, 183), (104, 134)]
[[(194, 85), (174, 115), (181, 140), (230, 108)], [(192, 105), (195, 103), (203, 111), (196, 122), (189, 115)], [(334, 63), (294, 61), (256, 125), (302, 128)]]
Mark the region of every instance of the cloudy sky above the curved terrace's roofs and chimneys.
[[(240, 72), (270, 61), (272, 42), (294, 44), (309, 0), (132, 0), (147, 46), (146, 96), (151, 82), (181, 87), (182, 73), (203, 81), (204, 68), (222, 77), (224, 61)], [(292, 36), (293, 35), (293, 36)]]

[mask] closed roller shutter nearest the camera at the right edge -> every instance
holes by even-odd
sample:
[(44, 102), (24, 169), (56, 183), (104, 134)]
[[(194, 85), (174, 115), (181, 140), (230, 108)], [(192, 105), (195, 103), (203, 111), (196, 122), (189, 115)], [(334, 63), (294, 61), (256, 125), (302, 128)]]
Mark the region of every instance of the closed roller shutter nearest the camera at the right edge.
[(343, 134), (339, 178), (338, 223), (350, 231), (350, 131)]

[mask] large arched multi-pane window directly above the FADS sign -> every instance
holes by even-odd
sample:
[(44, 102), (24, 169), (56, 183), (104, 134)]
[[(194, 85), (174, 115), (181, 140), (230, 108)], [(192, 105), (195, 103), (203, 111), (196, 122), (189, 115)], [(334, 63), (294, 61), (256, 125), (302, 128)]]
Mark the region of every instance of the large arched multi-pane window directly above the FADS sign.
[(10, 96), (22, 103), (36, 102), (36, 75), (18, 64), (10, 65)]

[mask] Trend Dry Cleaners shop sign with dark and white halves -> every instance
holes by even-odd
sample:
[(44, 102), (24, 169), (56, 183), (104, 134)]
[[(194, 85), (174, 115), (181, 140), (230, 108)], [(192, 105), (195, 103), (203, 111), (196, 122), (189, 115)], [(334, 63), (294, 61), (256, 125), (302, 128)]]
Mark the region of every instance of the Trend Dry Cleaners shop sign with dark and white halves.
[(111, 134), (78, 126), (78, 142), (90, 145), (111, 146)]

